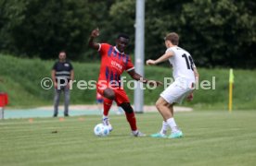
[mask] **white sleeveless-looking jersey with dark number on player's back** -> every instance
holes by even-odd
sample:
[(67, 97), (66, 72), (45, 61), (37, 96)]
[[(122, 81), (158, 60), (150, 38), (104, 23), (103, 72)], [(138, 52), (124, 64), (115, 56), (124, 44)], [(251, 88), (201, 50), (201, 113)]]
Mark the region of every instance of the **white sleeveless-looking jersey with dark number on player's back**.
[(190, 53), (178, 46), (168, 48), (166, 50), (166, 53), (167, 52), (173, 52), (173, 56), (169, 58), (169, 62), (173, 65), (173, 78), (176, 80), (178, 77), (185, 77), (195, 82), (193, 68), (196, 67), (196, 65)]

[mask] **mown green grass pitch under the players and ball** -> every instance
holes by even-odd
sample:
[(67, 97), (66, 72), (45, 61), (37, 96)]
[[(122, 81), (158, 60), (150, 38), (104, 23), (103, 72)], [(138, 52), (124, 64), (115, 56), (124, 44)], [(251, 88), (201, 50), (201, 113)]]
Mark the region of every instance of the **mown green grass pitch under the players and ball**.
[[(176, 113), (185, 137), (130, 136), (123, 115), (111, 116), (114, 130), (96, 137), (99, 116), (0, 121), (0, 165), (255, 165), (256, 112)], [(140, 130), (159, 130), (159, 113), (137, 114)], [(58, 131), (58, 133), (52, 133)]]

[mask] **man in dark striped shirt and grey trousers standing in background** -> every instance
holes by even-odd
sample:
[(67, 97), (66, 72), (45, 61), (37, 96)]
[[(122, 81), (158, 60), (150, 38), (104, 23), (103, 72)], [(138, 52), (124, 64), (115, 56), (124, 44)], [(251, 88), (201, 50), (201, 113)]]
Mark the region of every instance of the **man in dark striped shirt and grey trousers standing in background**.
[(70, 104), (70, 80), (74, 78), (73, 66), (66, 61), (66, 52), (58, 53), (58, 62), (52, 68), (52, 80), (54, 81), (54, 117), (58, 116), (58, 103), (61, 91), (64, 92), (64, 116), (69, 116)]

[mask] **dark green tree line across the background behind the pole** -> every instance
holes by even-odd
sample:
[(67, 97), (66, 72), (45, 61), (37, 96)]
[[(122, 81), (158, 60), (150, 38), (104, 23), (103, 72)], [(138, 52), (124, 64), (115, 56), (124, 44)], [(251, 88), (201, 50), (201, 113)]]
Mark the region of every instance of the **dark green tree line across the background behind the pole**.
[[(176, 31), (198, 66), (255, 68), (255, 8), (252, 0), (146, 0), (146, 59), (164, 53), (163, 37)], [(53, 59), (66, 50), (94, 61), (87, 41), (98, 27), (98, 41), (130, 35), (133, 54), (134, 22), (134, 0), (0, 0), (0, 52)]]

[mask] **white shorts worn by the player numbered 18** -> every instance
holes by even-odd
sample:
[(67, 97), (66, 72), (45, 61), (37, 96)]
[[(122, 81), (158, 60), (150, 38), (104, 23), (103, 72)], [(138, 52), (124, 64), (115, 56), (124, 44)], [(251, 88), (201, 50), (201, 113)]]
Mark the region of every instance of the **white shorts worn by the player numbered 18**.
[(181, 104), (184, 98), (195, 89), (195, 80), (188, 80), (186, 78), (177, 78), (173, 84), (160, 93), (165, 101), (169, 103)]

